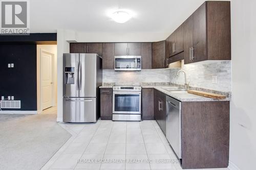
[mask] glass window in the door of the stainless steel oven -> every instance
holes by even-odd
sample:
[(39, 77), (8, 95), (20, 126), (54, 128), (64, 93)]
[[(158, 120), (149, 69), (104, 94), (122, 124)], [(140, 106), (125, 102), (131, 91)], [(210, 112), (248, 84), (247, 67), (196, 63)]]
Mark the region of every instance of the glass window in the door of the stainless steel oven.
[(139, 94), (115, 94), (115, 111), (139, 112)]

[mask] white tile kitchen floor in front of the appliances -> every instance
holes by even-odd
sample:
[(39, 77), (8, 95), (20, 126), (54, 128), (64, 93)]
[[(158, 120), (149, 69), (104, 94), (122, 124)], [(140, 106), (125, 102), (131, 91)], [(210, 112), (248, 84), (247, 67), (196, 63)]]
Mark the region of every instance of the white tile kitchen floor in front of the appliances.
[[(95, 124), (60, 123), (59, 125), (68, 130), (72, 137), (42, 169), (181, 169), (179, 163), (156, 162), (159, 159), (177, 160), (177, 158), (155, 120), (143, 122), (98, 120)], [(77, 163), (78, 159), (93, 162)], [(120, 160), (120, 162), (99, 162), (99, 160)], [(224, 169), (227, 168), (218, 170)]]

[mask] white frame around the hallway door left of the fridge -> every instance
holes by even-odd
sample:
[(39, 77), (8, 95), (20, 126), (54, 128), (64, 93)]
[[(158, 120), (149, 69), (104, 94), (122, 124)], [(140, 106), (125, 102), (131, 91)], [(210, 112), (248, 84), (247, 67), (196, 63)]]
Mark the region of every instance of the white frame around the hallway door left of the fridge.
[(55, 85), (55, 79), (54, 79), (54, 53), (51, 53), (51, 52), (48, 52), (48, 51), (46, 51), (46, 50), (42, 50), (41, 48), (40, 48), (40, 56), (39, 56), (39, 59), (40, 59), (40, 111), (42, 112), (42, 82), (41, 82), (41, 77), (42, 77), (42, 70), (41, 70), (41, 64), (42, 64), (42, 62), (41, 62), (41, 55), (42, 55), (42, 53), (46, 53), (46, 54), (48, 54), (48, 55), (51, 55), (52, 56), (52, 80), (51, 80), (51, 82), (53, 82), (53, 84), (52, 84), (52, 106), (51, 107), (53, 107), (53, 106), (56, 106), (56, 103), (55, 103), (55, 88), (54, 88), (54, 85)]

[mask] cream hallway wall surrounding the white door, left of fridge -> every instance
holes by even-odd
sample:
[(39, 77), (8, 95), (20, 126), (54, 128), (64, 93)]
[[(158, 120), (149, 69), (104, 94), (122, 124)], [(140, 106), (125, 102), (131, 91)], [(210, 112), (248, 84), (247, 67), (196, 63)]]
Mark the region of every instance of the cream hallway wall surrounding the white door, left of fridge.
[(49, 53), (54, 54), (54, 78), (53, 78), (53, 106), (57, 105), (57, 45), (37, 45), (36, 46), (36, 75), (37, 75), (37, 113), (41, 113), (41, 77), (40, 77), (40, 69), (41, 69), (41, 59), (40, 59), (40, 51), (44, 50)]

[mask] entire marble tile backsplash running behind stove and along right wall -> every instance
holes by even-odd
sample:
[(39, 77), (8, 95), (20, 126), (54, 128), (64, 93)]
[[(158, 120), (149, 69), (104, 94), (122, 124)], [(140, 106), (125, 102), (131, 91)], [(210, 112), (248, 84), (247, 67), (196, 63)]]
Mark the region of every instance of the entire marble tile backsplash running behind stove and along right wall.
[[(231, 91), (231, 61), (203, 61), (184, 65), (181, 68), (142, 69), (141, 71), (114, 71), (103, 69), (103, 83), (162, 83), (184, 84), (184, 74), (176, 77), (177, 71), (187, 73), (190, 86), (219, 91)], [(212, 83), (212, 76), (217, 76), (217, 83)]]

